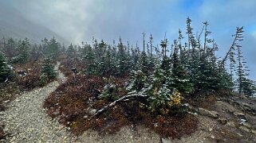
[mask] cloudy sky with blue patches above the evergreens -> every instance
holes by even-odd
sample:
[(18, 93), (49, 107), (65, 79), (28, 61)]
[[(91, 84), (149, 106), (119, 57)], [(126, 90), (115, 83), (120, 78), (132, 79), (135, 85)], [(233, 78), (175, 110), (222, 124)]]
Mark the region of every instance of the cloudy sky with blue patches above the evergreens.
[(141, 43), (152, 33), (159, 44), (164, 33), (171, 42), (178, 30), (185, 34), (186, 17), (191, 17), (195, 33), (202, 22), (210, 23), (211, 37), (221, 52), (230, 48), (231, 35), (237, 26), (245, 27), (242, 51), (256, 79), (256, 0), (1, 0), (0, 4), (18, 10), (28, 20), (45, 26), (67, 41), (104, 39), (108, 43), (122, 37), (123, 41)]

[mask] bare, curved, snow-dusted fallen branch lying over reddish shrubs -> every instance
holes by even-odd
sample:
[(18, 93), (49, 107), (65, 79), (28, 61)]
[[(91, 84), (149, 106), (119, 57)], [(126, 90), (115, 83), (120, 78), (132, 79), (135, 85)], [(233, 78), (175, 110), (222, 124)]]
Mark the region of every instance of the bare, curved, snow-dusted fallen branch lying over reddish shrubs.
[(107, 106), (104, 106), (102, 109), (96, 111), (96, 113), (93, 114), (92, 118), (102, 114), (104, 111), (108, 110), (109, 108), (111, 108), (113, 106), (116, 106), (116, 104), (119, 103), (119, 102), (124, 102), (124, 101), (127, 101), (129, 99), (147, 99), (147, 98), (148, 98), (148, 95), (142, 95), (142, 94), (126, 95), (126, 96), (124, 96), (120, 99), (117, 99), (114, 102), (111, 102)]

